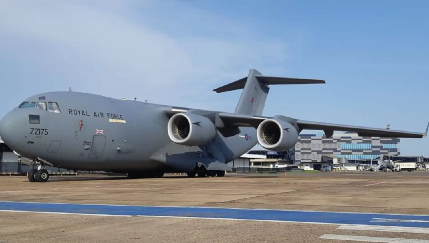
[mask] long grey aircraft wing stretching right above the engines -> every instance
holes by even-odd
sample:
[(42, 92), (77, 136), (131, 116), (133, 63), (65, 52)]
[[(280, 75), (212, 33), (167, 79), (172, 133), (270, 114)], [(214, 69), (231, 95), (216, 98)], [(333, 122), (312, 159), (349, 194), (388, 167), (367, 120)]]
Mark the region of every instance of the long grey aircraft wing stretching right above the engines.
[[(224, 123), (233, 126), (253, 126), (257, 127), (263, 120), (270, 119), (273, 117), (256, 117), (252, 115), (243, 115), (235, 113), (219, 113), (219, 117)], [(426, 127), (426, 132), (408, 132), (408, 131), (397, 131), (391, 129), (383, 128), (372, 128), (365, 126), (350, 126), (342, 125), (335, 123), (323, 123), (315, 121), (306, 121), (306, 120), (297, 120), (290, 117), (284, 116), (275, 116), (281, 120), (288, 121), (290, 123), (295, 123), (300, 130), (310, 129), (310, 130), (323, 130), (326, 133), (327, 137), (332, 136), (334, 131), (344, 131), (344, 132), (357, 132), (359, 136), (362, 137), (393, 137), (393, 138), (423, 138), (426, 137), (426, 134), (429, 129), (429, 123)]]

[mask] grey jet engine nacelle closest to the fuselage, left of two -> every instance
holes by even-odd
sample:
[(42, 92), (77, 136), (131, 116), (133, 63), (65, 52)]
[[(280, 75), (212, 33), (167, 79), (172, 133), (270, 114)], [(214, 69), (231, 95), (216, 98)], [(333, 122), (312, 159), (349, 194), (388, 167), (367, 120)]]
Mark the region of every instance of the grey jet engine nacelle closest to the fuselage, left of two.
[(208, 144), (216, 136), (215, 124), (196, 114), (175, 114), (170, 118), (167, 130), (173, 142), (189, 146)]

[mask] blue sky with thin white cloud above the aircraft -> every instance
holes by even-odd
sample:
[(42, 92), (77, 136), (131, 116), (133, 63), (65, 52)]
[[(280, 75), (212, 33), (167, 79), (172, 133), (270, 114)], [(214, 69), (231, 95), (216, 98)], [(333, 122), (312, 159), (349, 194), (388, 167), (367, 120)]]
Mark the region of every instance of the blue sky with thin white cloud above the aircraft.
[[(423, 0), (1, 1), (0, 116), (69, 87), (234, 111), (240, 90), (211, 90), (256, 68), (326, 80), (272, 87), (264, 115), (423, 132), (428, 8)], [(428, 145), (401, 139), (400, 149), (429, 156)]]

